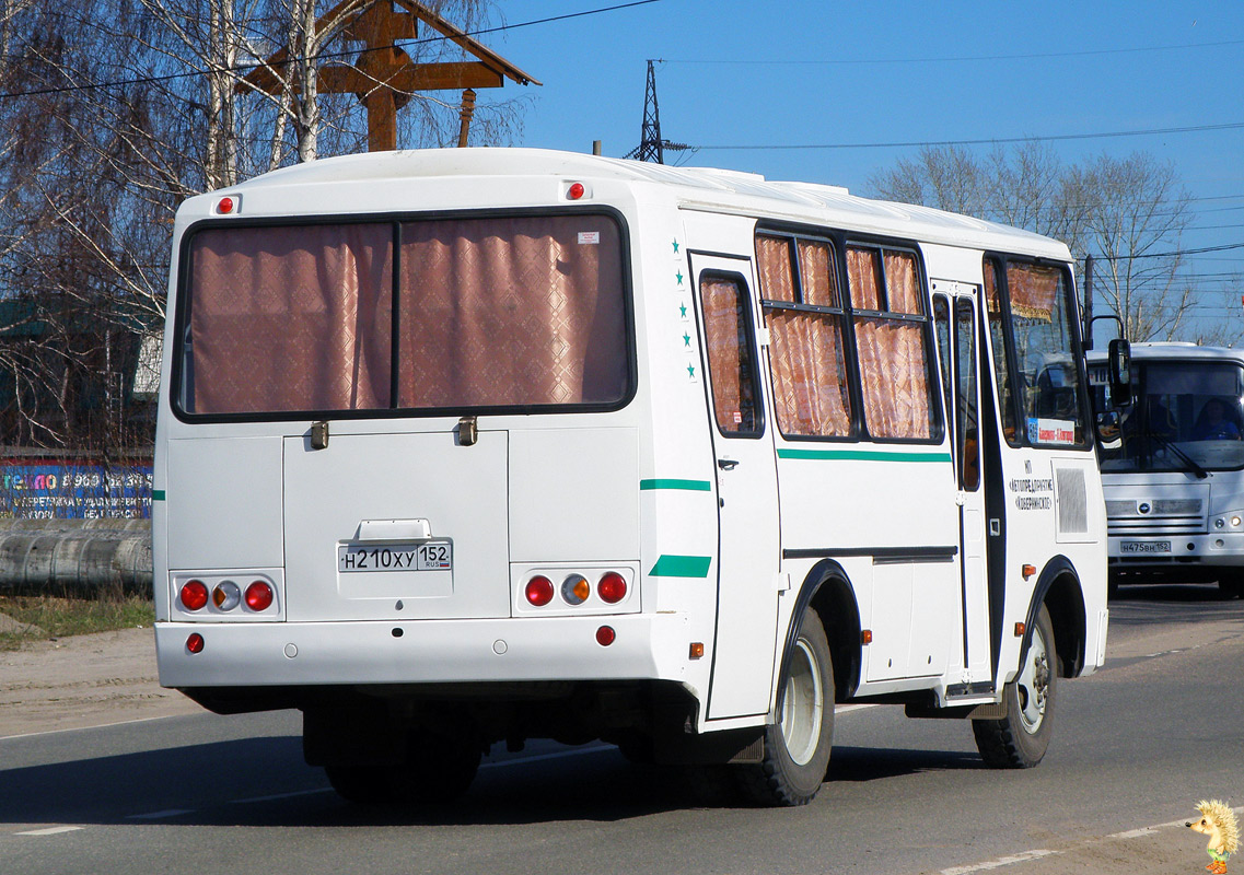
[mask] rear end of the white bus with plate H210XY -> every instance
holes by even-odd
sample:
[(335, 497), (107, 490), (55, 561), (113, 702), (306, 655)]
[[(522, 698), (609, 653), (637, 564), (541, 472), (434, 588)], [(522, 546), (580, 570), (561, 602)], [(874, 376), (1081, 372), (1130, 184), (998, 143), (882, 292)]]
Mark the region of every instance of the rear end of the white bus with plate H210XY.
[(445, 792), (498, 738), (642, 737), (687, 660), (641, 593), (627, 222), (552, 191), (281, 215), (306, 198), (260, 186), (179, 215), (160, 682), (301, 707), (352, 798), (407, 792), (384, 776), (412, 751), (458, 764)]

